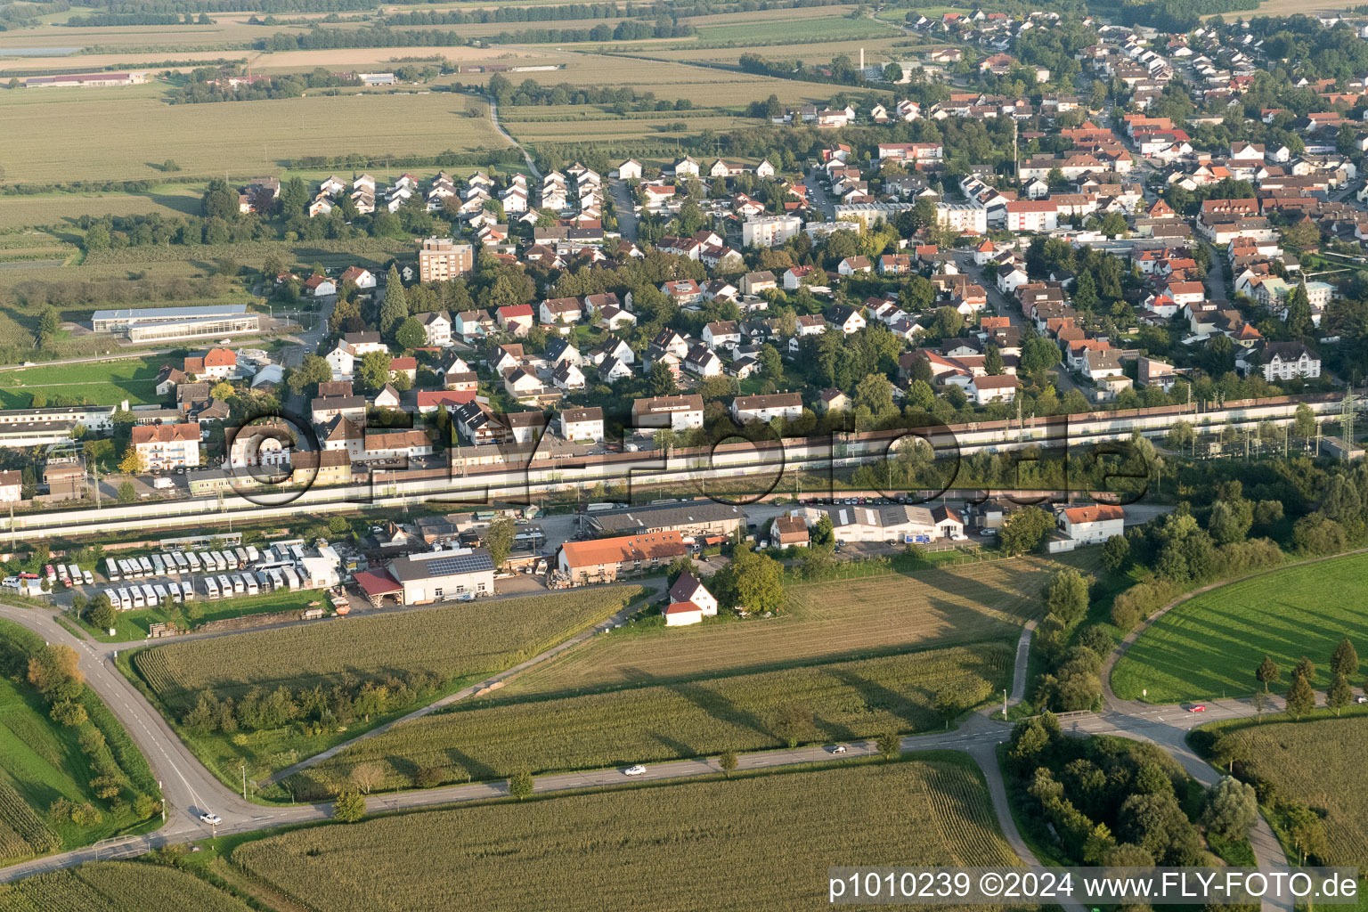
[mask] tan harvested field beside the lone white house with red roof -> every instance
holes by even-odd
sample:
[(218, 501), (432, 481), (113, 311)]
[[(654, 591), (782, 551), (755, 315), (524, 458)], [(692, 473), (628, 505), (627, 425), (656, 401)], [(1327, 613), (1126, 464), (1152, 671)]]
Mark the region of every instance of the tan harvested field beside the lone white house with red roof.
[(1053, 561), (1021, 558), (914, 577), (798, 585), (789, 614), (692, 628), (622, 628), (531, 669), (505, 696), (735, 674), (911, 648), (1015, 640), (1038, 613)]

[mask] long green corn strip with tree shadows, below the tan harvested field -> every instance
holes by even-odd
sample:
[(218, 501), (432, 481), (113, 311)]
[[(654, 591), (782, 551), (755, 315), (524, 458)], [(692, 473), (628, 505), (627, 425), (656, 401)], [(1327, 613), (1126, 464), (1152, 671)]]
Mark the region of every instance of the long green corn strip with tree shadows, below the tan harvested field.
[(921, 732), (941, 725), (938, 693), (986, 696), (1011, 678), (1014, 654), (1007, 643), (979, 643), (581, 696), (461, 703), (295, 774), (293, 788), (327, 794), (360, 763), (379, 764), (384, 789), (404, 789), (420, 771), (495, 779), (520, 768), (602, 768)]

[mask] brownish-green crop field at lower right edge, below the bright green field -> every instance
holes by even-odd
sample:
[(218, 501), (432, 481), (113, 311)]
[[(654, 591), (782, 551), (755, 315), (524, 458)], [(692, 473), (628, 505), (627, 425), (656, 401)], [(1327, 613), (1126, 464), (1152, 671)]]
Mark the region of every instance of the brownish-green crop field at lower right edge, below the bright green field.
[(1244, 725), (1234, 737), (1246, 745), (1253, 777), (1324, 811), (1327, 864), (1368, 866), (1368, 716)]

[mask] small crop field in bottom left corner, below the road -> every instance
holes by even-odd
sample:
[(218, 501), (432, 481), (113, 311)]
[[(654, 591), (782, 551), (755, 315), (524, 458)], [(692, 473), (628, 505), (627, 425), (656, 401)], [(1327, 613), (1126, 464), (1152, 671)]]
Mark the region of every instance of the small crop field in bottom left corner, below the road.
[(185, 871), (92, 861), (0, 886), (0, 912), (248, 912), (248, 907)]

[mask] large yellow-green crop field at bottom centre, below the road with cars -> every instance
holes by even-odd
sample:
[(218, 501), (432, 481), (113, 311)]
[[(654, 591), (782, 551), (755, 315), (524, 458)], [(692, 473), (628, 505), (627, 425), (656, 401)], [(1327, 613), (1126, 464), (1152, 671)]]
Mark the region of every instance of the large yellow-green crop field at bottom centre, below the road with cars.
[(244, 842), (231, 860), (319, 912), (551, 894), (561, 912), (793, 912), (826, 907), (833, 863), (1018, 864), (981, 774), (947, 753), (387, 816)]

